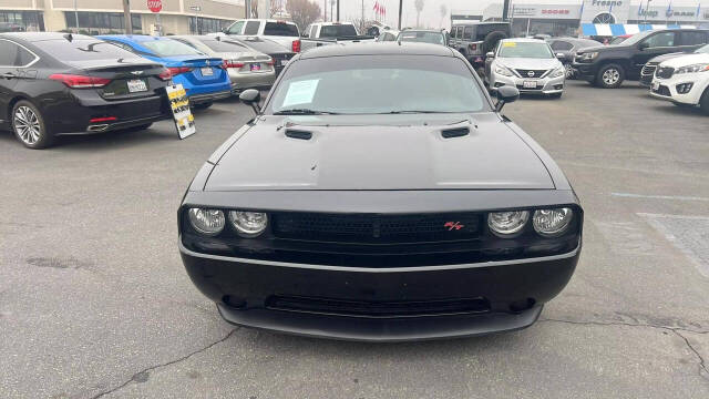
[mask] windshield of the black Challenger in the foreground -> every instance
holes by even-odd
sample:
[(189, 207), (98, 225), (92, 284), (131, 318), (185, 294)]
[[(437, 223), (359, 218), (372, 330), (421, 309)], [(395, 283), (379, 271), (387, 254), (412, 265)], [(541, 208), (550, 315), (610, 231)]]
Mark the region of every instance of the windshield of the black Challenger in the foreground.
[(475, 112), (485, 104), (471, 70), (458, 58), (349, 55), (294, 63), (275, 88), (266, 112)]

